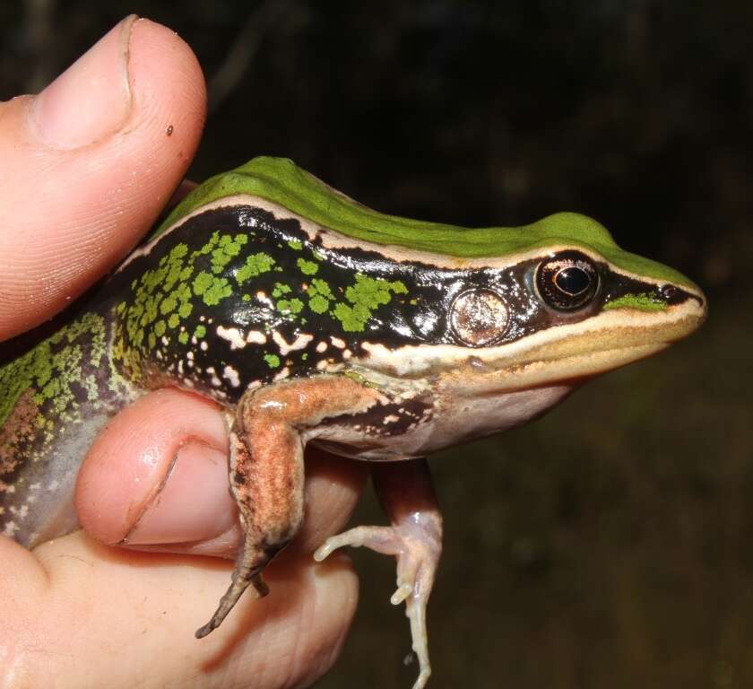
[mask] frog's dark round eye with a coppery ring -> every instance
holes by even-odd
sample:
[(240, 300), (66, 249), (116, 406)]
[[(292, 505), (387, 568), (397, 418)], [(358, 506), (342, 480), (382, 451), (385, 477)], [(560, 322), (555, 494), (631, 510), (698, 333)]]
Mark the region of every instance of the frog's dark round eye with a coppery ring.
[(562, 251), (536, 269), (536, 289), (552, 309), (574, 311), (593, 301), (599, 291), (599, 272), (578, 251)]

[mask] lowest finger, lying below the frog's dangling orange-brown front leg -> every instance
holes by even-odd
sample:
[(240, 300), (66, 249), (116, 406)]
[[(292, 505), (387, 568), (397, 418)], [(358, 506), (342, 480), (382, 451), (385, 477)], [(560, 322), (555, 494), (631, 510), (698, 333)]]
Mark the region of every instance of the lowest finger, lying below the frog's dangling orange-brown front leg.
[[(141, 554), (82, 532), (35, 555), (0, 539), (4, 676), (23, 686), (309, 686), (342, 648), (357, 580), (342, 560), (273, 563), (271, 593), (246, 597), (220, 629), (197, 641), (227, 571), (203, 558)], [(253, 679), (252, 679), (253, 678)]]

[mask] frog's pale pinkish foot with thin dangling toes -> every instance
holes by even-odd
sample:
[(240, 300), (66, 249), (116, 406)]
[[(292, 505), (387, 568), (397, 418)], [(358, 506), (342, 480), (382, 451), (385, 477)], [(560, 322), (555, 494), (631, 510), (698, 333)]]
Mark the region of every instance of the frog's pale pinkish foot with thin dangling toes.
[(405, 601), (411, 623), (412, 649), (419, 659), (419, 677), (413, 689), (423, 689), (431, 675), (428, 660), (426, 606), (442, 552), (442, 522), (433, 512), (415, 512), (392, 527), (356, 527), (327, 538), (314, 554), (317, 562), (344, 545), (364, 546), (397, 558), (397, 589), (390, 602)]

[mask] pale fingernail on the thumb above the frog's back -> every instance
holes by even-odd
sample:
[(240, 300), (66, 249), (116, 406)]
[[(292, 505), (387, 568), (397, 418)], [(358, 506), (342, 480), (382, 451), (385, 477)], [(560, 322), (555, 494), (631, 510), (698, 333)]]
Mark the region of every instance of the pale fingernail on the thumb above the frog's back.
[(137, 19), (126, 17), (34, 99), (31, 118), (46, 144), (80, 148), (125, 124), (131, 110), (128, 47)]

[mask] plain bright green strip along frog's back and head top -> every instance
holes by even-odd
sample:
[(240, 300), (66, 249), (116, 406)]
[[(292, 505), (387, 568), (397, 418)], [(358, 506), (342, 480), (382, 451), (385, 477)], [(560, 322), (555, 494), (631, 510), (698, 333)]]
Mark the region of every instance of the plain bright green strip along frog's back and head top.
[(224, 196), (261, 196), (323, 227), (376, 244), (393, 244), (463, 258), (496, 258), (566, 244), (593, 249), (614, 266), (656, 280), (695, 286), (668, 266), (619, 249), (599, 222), (558, 213), (520, 227), (463, 228), (385, 215), (327, 187), (286, 158), (259, 157), (195, 188), (154, 233)]

